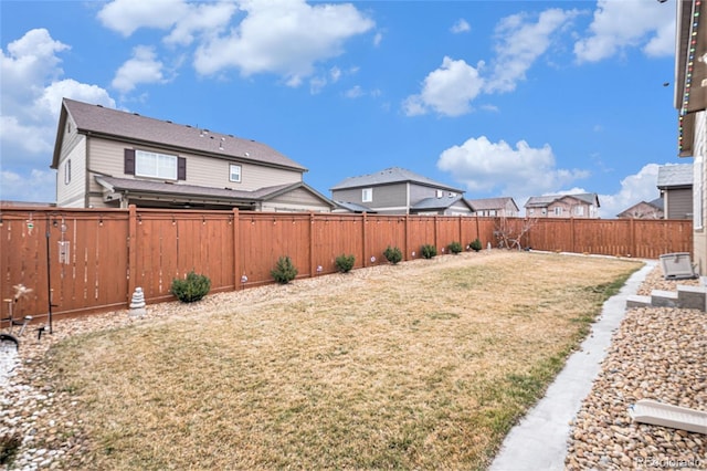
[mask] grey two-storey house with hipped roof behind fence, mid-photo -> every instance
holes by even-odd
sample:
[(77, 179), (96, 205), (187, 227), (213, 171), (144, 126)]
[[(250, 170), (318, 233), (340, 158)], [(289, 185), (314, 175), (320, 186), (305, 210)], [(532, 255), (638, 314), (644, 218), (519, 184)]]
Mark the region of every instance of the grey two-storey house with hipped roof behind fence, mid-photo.
[(340, 207), (355, 205), (357, 212), (471, 216), (473, 211), (463, 190), (399, 167), (346, 178), (330, 191)]

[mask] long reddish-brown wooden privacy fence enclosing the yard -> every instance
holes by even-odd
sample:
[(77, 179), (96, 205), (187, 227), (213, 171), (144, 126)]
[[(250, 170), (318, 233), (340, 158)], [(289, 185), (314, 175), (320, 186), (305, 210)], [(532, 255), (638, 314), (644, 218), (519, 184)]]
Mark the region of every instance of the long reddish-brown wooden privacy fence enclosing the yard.
[[(148, 303), (173, 300), (175, 278), (190, 271), (211, 279), (212, 292), (272, 282), (271, 270), (289, 255), (298, 278), (336, 272), (335, 260), (354, 254), (355, 268), (387, 263), (398, 247), (404, 260), (420, 258), (423, 244), (439, 254), (454, 241), (481, 239), (496, 247), (500, 224), (523, 227), (520, 218), (373, 216), (2, 208), (0, 211), (0, 295), (13, 285), (33, 291), (15, 315), (43, 318), (125, 308), (137, 286)], [(521, 240), (535, 250), (656, 259), (692, 252), (692, 222), (666, 220), (531, 221)], [(8, 316), (8, 303), (0, 317)]]

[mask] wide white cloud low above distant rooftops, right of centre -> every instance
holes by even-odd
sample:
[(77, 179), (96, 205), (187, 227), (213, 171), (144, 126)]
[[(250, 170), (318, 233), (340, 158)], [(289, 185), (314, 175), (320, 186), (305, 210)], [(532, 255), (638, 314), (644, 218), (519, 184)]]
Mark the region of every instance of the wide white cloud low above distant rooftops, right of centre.
[[(444, 150), (437, 168), (449, 171), (471, 191), (496, 191), (526, 199), (589, 177), (585, 170), (557, 168), (548, 144), (535, 148), (519, 140), (513, 147), (504, 140), (492, 143), (486, 136), (472, 137)], [(523, 205), (525, 199), (516, 202)]]

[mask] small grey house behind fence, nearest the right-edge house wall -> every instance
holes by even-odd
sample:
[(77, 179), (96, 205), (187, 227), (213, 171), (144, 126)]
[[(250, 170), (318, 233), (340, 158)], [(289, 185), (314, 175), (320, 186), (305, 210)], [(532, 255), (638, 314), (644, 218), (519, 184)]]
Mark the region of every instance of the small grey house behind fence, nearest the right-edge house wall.
[(663, 197), (665, 219), (692, 219), (693, 165), (663, 165), (658, 167), (658, 190)]

